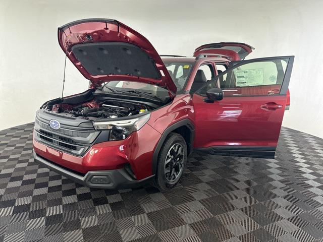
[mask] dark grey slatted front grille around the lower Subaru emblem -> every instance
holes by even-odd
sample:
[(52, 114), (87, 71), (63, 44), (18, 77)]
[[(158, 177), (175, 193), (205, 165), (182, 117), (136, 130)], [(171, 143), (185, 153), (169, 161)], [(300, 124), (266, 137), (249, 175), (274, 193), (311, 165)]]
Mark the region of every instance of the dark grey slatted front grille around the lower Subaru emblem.
[[(77, 127), (75, 127), (77, 128)], [(54, 130), (36, 118), (36, 140), (56, 150), (61, 150), (73, 155), (82, 156), (91, 146), (98, 133), (93, 131), (74, 131), (61, 127)]]

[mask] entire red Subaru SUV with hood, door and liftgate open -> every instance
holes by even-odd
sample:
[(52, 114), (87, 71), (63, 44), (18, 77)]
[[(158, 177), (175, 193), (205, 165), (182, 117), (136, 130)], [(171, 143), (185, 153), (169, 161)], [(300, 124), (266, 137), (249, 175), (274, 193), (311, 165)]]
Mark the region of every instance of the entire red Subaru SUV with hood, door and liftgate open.
[(93, 188), (168, 190), (193, 149), (274, 158), (294, 56), (244, 60), (253, 47), (224, 42), (159, 55), (111, 19), (66, 24), (58, 39), (91, 85), (36, 112), (34, 159), (49, 169)]

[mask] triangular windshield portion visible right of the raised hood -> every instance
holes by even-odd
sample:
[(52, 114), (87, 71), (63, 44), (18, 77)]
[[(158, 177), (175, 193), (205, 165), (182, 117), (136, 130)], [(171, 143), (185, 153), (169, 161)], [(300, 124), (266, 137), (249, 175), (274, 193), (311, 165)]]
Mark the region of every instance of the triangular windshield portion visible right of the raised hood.
[(167, 59), (163, 59), (163, 62), (177, 87), (177, 93), (181, 92), (186, 85), (192, 63), (174, 62)]

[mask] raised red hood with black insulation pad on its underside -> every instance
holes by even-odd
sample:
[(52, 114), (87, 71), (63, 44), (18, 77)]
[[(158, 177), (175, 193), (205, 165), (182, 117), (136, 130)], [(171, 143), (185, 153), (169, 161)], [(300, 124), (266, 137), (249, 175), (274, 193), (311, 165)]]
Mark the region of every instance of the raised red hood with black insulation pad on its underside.
[(151, 43), (113, 19), (84, 19), (58, 29), (64, 53), (92, 82), (136, 81), (166, 87), (171, 97), (176, 85)]

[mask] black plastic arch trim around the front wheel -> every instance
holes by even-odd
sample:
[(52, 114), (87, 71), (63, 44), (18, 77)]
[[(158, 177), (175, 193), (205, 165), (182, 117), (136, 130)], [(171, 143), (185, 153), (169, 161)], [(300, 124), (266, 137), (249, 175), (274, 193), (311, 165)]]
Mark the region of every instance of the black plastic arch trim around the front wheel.
[(175, 124), (169, 126), (163, 134), (161, 134), (161, 137), (156, 145), (156, 148), (153, 152), (152, 155), (152, 174), (155, 174), (157, 171), (157, 160), (158, 160), (158, 154), (159, 151), (161, 149), (161, 146), (163, 146), (167, 136), (173, 132), (174, 130), (185, 126), (187, 127), (190, 131), (191, 131), (191, 136), (190, 136), (190, 144), (189, 144), (189, 150), (188, 150), (188, 154), (193, 152), (193, 141), (194, 141), (194, 136), (195, 136), (195, 131), (194, 131), (194, 125), (192, 123), (192, 121), (188, 118), (182, 119), (179, 122), (176, 122)]

